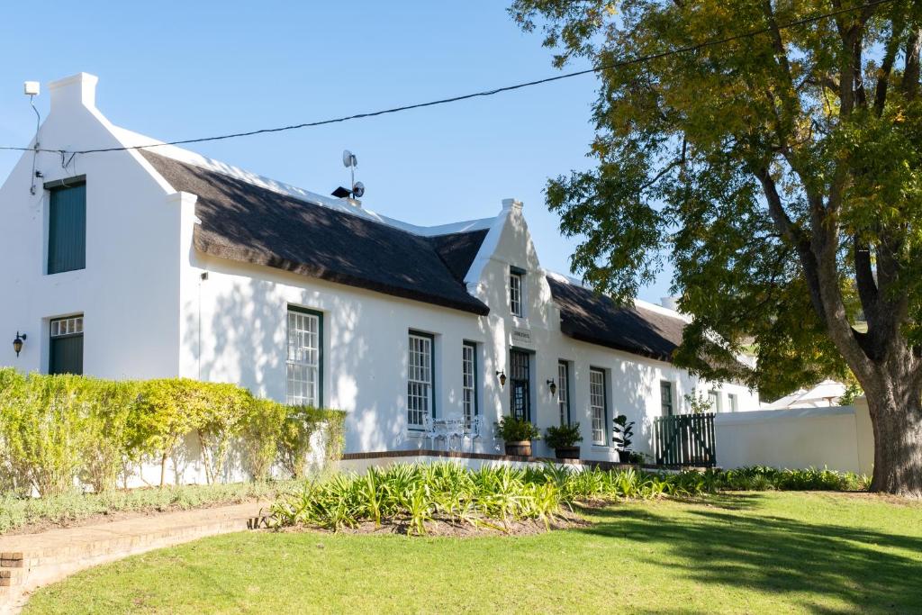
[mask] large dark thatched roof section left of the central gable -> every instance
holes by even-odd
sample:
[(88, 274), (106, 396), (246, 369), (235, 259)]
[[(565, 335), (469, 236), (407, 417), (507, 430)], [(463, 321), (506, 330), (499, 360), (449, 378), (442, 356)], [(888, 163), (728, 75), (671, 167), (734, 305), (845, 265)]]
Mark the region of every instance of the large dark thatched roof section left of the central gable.
[(174, 190), (198, 197), (201, 224), (194, 242), (201, 252), (464, 312), (490, 312), (460, 281), (486, 231), (424, 237), (219, 171), (141, 154)]

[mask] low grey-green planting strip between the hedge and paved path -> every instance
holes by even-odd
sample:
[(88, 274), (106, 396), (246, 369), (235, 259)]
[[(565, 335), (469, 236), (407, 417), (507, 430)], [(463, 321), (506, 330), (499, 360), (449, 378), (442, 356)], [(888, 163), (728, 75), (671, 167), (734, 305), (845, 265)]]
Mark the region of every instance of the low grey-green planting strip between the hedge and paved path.
[(45, 498), (0, 494), (0, 535), (26, 526), (68, 525), (98, 514), (152, 513), (273, 498), (295, 488), (296, 481), (167, 486), (163, 489), (65, 493)]

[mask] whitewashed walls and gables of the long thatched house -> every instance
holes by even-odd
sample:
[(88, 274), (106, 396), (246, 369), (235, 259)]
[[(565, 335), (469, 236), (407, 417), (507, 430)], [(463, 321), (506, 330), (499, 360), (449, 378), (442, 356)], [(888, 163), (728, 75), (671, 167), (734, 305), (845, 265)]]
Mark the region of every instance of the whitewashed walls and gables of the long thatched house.
[[(151, 142), (113, 126), (100, 114), (95, 85), (96, 77), (85, 74), (53, 85), (52, 112), (41, 127), (42, 147), (85, 149)], [(174, 148), (158, 151), (177, 152)], [(704, 394), (708, 388), (721, 391), (725, 408), (726, 394), (731, 392), (738, 395), (740, 410), (759, 407), (758, 395), (744, 387), (709, 386), (667, 362), (561, 335), (560, 314), (551, 301), (522, 206), (512, 199), (503, 201), (499, 215), (486, 222), (489, 234), (465, 280), (468, 290), (491, 308), (489, 316), (479, 317), (200, 254), (192, 244), (195, 195), (173, 192), (136, 152), (77, 156), (67, 168), (62, 168), (57, 154), (41, 154), (39, 169), (43, 182), (87, 175), (87, 268), (43, 274), (47, 199), (41, 183), (39, 194), (29, 195), (31, 155), (27, 153), (0, 189), (0, 228), (15, 230), (0, 242), (4, 264), (0, 323), (8, 329), (0, 331), (0, 342), (5, 335), (12, 339), (17, 329), (30, 337), (19, 358), (12, 344), (0, 343), (0, 365), (45, 371), (49, 320), (83, 313), (85, 373), (110, 378), (180, 375), (231, 382), (283, 401), (286, 311), (293, 303), (325, 315), (323, 401), (349, 412), (347, 452), (424, 445), (407, 429), (411, 328), (435, 337), (435, 401), (441, 416), (461, 414), (462, 343), (479, 344), (479, 410), (490, 432), (493, 422), (509, 413), (508, 386), (502, 388), (495, 373), (509, 373), (511, 345), (535, 352), (531, 407), (542, 431), (559, 420), (557, 401), (546, 382), (557, 379), (558, 360), (572, 361), (571, 418), (580, 422), (586, 458), (617, 460), (610, 445), (591, 444), (590, 366), (607, 374), (607, 440), (610, 443), (611, 418), (626, 414), (637, 423), (634, 448), (640, 451), (651, 449), (650, 426), (660, 414), (660, 380), (674, 383), (677, 410), (684, 409), (683, 396), (695, 391)], [(227, 165), (219, 171), (242, 172)], [(364, 210), (356, 213), (374, 216)], [(526, 270), (523, 318), (514, 317), (508, 305), (510, 265)], [(204, 272), (208, 278), (203, 281)], [(522, 331), (528, 332), (530, 341), (514, 341), (514, 333)], [(500, 452), (502, 443), (490, 436), (478, 450)], [(542, 443), (536, 453), (551, 452)]]

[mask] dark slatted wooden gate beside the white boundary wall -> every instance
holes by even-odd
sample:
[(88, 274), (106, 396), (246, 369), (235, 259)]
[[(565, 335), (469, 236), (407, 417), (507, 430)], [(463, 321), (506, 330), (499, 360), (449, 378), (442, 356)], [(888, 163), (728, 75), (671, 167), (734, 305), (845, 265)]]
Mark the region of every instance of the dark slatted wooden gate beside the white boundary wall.
[(657, 465), (715, 466), (714, 413), (658, 417), (653, 420), (653, 441)]

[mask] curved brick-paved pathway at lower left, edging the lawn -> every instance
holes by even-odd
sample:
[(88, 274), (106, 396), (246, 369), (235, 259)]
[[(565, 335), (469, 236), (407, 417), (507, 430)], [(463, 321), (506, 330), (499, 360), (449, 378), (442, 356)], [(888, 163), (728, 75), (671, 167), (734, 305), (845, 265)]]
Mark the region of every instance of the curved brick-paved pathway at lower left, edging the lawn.
[(0, 536), (0, 615), (18, 612), (30, 591), (127, 555), (245, 530), (268, 503), (151, 514), (41, 534)]

